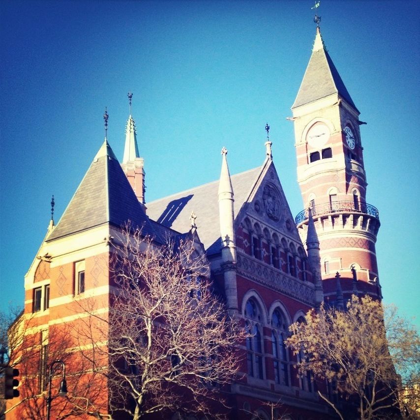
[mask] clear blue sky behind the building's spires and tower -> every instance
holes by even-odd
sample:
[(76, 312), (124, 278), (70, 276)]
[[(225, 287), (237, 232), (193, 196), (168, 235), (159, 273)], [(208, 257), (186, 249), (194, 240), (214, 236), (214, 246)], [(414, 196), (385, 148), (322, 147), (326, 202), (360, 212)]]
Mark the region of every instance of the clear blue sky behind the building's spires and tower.
[[(286, 120), (315, 36), (312, 1), (0, 2), (1, 308), (104, 138), (121, 159), (127, 91), (151, 201), (273, 156), (294, 214)], [(419, 1), (321, 0), (321, 31), (359, 108), (367, 201), (380, 211), (386, 303), (419, 314)], [(197, 219), (199, 224), (199, 219)], [(419, 317), (418, 317), (419, 318)], [(417, 324), (420, 324), (417, 319)]]

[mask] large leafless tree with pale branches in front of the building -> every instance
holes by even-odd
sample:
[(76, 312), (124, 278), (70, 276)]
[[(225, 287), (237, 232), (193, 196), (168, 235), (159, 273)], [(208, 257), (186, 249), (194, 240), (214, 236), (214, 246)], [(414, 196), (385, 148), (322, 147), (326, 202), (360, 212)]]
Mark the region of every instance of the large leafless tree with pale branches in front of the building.
[[(237, 346), (246, 333), (216, 296), (201, 243), (190, 233), (156, 245), (128, 228), (114, 243), (115, 293), (107, 317), (92, 300), (84, 312), (94, 319), (78, 332), (96, 337), (92, 352), (107, 352), (108, 368), (97, 367), (107, 375), (112, 409), (133, 419), (156, 412), (206, 415), (217, 405), (222, 412), (220, 390), (236, 377)], [(100, 331), (106, 347), (94, 346)]]

